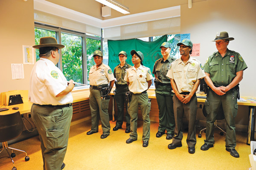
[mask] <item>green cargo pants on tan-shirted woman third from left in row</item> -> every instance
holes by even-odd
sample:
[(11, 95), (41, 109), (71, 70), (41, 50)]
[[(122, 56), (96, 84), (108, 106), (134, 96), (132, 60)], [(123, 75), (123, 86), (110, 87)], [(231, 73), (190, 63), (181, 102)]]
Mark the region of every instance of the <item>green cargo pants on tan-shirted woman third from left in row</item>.
[(137, 139), (137, 120), (138, 120), (138, 105), (140, 106), (143, 118), (143, 141), (148, 141), (150, 137), (150, 119), (149, 112), (151, 102), (148, 102), (148, 93), (132, 94), (131, 101), (128, 103), (128, 112), (131, 117), (131, 139)]

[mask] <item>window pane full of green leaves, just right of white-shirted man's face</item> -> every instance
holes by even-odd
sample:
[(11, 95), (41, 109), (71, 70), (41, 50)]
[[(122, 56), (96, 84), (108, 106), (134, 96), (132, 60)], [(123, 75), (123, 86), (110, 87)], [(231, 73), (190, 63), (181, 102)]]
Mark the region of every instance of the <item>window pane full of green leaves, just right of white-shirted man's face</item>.
[(62, 71), (66, 79), (83, 83), (82, 37), (61, 33)]

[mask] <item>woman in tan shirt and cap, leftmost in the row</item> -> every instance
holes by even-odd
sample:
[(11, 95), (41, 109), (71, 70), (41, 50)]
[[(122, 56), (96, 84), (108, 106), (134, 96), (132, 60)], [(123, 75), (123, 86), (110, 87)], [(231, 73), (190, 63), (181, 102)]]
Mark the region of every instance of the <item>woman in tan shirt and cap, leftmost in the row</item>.
[[(108, 137), (110, 133), (110, 123), (108, 115), (108, 103), (110, 100), (110, 91), (114, 85), (114, 75), (108, 65), (103, 64), (102, 51), (93, 52), (93, 59), (96, 65), (90, 68), (90, 111), (92, 115), (92, 127), (87, 135), (91, 135), (99, 131), (99, 116), (102, 122), (103, 134), (101, 139)], [(110, 85), (108, 86), (108, 82)]]

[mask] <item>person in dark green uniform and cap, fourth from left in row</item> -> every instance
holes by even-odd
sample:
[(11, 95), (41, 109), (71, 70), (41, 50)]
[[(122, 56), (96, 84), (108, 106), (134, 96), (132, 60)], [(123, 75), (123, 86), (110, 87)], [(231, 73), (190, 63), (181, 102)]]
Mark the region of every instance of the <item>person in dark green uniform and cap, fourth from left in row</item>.
[(166, 130), (166, 139), (172, 139), (175, 128), (172, 101), (173, 93), (170, 79), (169, 77), (166, 77), (166, 74), (171, 63), (175, 61), (175, 58), (169, 55), (171, 51), (169, 42), (163, 42), (160, 48), (163, 57), (155, 62), (152, 71), (155, 76), (155, 93), (159, 109), (159, 127), (156, 136), (157, 138), (160, 138)]

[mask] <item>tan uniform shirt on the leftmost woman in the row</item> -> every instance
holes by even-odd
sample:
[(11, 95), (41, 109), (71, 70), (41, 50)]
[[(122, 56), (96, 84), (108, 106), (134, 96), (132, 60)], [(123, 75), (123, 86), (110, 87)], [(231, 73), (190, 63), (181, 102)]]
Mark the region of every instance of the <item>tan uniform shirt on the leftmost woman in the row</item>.
[(96, 68), (96, 65), (90, 68), (90, 85), (106, 85), (114, 79), (113, 72), (108, 65), (102, 63), (99, 68)]

